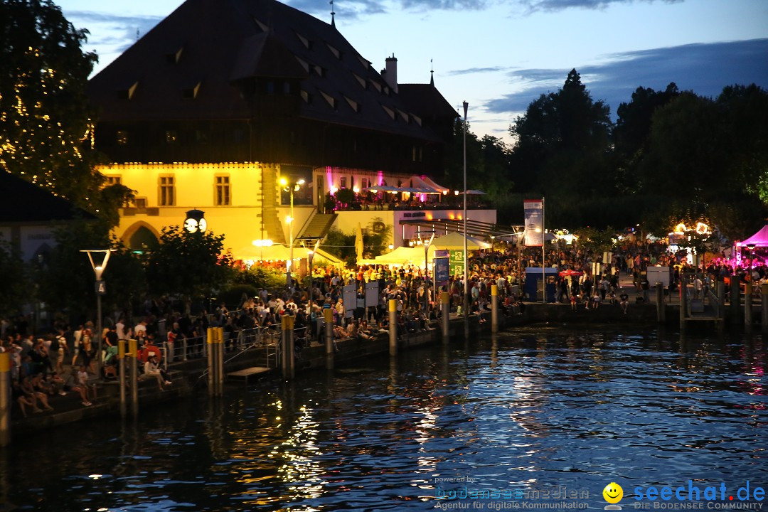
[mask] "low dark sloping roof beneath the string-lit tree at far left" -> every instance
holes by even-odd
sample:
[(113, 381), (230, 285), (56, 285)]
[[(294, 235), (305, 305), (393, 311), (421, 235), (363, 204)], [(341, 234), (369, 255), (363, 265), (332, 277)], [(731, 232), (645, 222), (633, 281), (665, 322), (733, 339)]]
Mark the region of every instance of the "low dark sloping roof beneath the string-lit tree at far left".
[(96, 217), (34, 183), (0, 171), (0, 223), (45, 223)]

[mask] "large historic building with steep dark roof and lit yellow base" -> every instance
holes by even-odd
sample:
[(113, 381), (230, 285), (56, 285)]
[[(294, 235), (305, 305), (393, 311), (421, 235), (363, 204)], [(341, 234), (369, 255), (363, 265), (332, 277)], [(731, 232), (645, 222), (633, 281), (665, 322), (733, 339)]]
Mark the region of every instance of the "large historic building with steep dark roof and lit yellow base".
[[(385, 66), (333, 20), (280, 2), (187, 0), (89, 84), (96, 144), (112, 162), (101, 172), (136, 190), (116, 234), (141, 249), (204, 210), (244, 259), (254, 239), (343, 228), (329, 193), (441, 172), (456, 112), (432, 80), (399, 84), (393, 55)], [(281, 192), (281, 178), (303, 184)]]

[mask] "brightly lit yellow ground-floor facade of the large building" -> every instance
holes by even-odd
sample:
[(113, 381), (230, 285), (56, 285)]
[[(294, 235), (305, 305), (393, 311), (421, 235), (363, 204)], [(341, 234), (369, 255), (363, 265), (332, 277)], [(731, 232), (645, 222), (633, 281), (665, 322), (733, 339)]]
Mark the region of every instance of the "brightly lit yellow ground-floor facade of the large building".
[[(127, 246), (142, 249), (166, 226), (180, 226), (188, 210), (204, 210), (208, 229), (225, 235), (233, 256), (253, 250), (254, 239), (286, 243), (275, 164), (111, 164), (100, 168), (108, 183), (134, 190), (135, 200), (121, 209), (114, 234)], [(286, 210), (285, 215), (283, 211)], [(312, 206), (296, 207), (303, 225)]]

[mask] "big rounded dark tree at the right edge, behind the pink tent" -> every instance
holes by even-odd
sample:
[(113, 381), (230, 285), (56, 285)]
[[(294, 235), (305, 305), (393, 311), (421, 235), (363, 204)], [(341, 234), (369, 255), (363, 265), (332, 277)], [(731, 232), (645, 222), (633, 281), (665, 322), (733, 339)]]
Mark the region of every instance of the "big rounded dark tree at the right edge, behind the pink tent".
[(730, 239), (753, 233), (768, 214), (766, 140), (768, 93), (755, 85), (715, 100), (684, 92), (659, 107), (637, 166), (641, 193), (665, 199), (654, 215), (668, 224), (655, 229), (706, 217)]

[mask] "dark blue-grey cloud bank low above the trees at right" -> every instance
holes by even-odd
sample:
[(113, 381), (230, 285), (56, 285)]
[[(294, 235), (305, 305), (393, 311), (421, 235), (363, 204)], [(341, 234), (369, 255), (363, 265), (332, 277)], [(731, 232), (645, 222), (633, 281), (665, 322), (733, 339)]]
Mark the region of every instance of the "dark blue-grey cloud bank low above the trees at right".
[[(603, 100), (615, 116), (638, 87), (660, 90), (675, 82), (680, 90), (715, 97), (723, 87), (755, 83), (768, 88), (768, 38), (683, 45), (608, 55), (605, 64), (578, 66), (592, 99)], [(570, 69), (516, 69), (508, 73), (521, 91), (485, 103), (494, 114), (524, 112), (540, 94), (562, 87)]]

